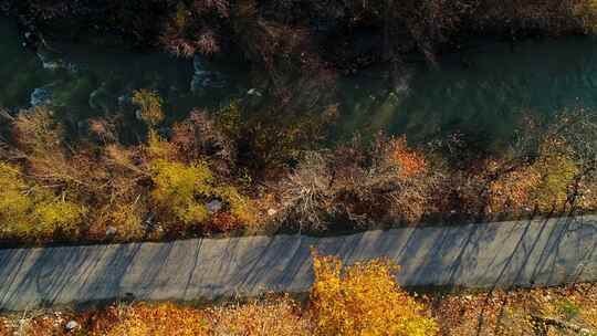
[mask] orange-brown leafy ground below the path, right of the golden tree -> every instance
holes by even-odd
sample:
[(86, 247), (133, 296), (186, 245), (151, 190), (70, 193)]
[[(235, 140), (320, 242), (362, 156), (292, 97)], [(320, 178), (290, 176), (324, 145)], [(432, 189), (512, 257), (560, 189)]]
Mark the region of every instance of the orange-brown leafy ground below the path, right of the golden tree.
[(446, 336), (593, 335), (597, 327), (594, 284), (431, 296), (431, 309)]

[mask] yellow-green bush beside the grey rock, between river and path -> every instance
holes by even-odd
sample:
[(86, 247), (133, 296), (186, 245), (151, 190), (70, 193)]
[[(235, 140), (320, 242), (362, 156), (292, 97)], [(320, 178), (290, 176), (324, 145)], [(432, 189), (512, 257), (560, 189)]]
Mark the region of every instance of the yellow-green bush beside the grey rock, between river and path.
[(185, 224), (201, 223), (208, 218), (202, 198), (213, 191), (213, 176), (205, 162), (187, 166), (156, 160), (151, 165), (155, 188), (153, 201), (174, 213)]

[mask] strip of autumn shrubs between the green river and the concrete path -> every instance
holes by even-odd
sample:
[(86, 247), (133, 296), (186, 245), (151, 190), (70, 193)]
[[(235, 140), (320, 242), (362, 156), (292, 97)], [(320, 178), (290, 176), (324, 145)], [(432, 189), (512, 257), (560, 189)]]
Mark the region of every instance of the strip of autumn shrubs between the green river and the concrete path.
[(385, 135), (325, 148), (333, 106), (287, 118), (233, 102), (214, 114), (193, 111), (165, 135), (161, 102), (153, 91), (134, 93), (146, 136), (133, 145), (121, 140), (129, 128), (118, 119), (90, 119), (87, 134), (70, 141), (48, 107), (8, 115), (0, 238), (34, 244), (333, 235), (597, 208), (597, 122), (583, 111), (530, 120), (515, 150), (479, 156), (458, 136), (419, 148)]

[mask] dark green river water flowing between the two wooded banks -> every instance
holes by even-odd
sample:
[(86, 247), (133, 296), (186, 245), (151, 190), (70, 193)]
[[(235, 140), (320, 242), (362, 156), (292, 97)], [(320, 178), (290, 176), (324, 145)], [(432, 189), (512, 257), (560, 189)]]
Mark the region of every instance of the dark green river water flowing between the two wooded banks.
[[(93, 116), (133, 111), (127, 104), (138, 88), (159, 91), (174, 119), (192, 107), (245, 97), (252, 88), (241, 62), (50, 44), (51, 50), (33, 53), (23, 48), (15, 25), (0, 19), (1, 107), (65, 107), (65, 123), (76, 128)], [(437, 69), (409, 64), (391, 87), (386, 73), (368, 70), (338, 80), (338, 138), (384, 129), (423, 141), (460, 132), (493, 147), (507, 141), (525, 115), (597, 107), (591, 38), (491, 43), (443, 56)]]

